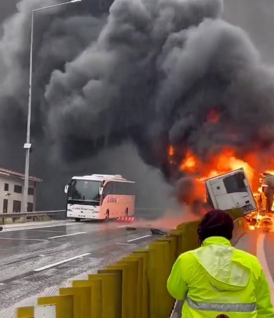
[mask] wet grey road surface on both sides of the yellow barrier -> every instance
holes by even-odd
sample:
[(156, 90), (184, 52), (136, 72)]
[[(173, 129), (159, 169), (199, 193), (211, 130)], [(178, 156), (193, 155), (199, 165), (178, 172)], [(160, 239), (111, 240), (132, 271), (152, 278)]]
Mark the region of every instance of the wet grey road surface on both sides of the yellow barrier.
[[(150, 227), (174, 228), (179, 223), (176, 218), (137, 220), (136, 231), (115, 221), (6, 227), (0, 232), (0, 317), (10, 318), (15, 307), (35, 304), (34, 296), (57, 294), (59, 287), (70, 286), (70, 279), (86, 279), (88, 273), (147, 247), (156, 238)], [(273, 246), (274, 233), (261, 231), (249, 232), (237, 245), (263, 259), (274, 280)]]

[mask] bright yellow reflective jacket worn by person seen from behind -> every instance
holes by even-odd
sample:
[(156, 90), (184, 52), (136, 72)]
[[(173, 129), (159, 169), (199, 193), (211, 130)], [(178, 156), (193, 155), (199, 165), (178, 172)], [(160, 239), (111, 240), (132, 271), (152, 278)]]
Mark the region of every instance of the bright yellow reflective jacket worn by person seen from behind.
[(185, 300), (183, 318), (274, 318), (270, 290), (258, 259), (222, 237), (205, 239), (173, 265), (167, 289)]

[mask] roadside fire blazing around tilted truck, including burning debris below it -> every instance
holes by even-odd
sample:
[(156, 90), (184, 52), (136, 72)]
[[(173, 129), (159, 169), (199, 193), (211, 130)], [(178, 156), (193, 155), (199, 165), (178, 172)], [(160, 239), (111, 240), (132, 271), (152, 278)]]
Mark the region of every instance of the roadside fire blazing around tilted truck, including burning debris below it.
[[(212, 118), (211, 120), (215, 122), (216, 118), (213, 114)], [(172, 165), (174, 163), (173, 157), (176, 154), (176, 148), (170, 145), (168, 153), (170, 164)], [(263, 174), (274, 176), (274, 160), (270, 160), (268, 154), (263, 155), (260, 152), (258, 152), (258, 154), (254, 152), (239, 157), (234, 149), (225, 148), (218, 155), (214, 155), (204, 162), (200, 160), (198, 156), (195, 156), (192, 151), (188, 150), (186, 151), (185, 158), (179, 164), (179, 170), (181, 172), (186, 174), (186, 176), (194, 178), (196, 183), (201, 184), (208, 178), (222, 175), (239, 168), (244, 168), (254, 198), (258, 203), (258, 198), (263, 195)], [(195, 193), (195, 195), (202, 197), (205, 201), (205, 186), (196, 187), (196, 191), (197, 189), (199, 193)], [(268, 223), (272, 222), (271, 219), (273, 220), (273, 216), (266, 215), (262, 217), (260, 211), (253, 212), (253, 214), (251, 213), (248, 218), (256, 219), (256, 223), (250, 225), (251, 230), (254, 230), (255, 227), (267, 227), (269, 225)]]

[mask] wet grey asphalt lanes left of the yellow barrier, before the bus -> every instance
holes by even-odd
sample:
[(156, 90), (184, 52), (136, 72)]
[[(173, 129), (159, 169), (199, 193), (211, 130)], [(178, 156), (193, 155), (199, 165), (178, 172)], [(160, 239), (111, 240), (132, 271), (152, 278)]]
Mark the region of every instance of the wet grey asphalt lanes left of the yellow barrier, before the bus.
[(156, 239), (149, 227), (80, 222), (0, 232), (0, 309), (93, 268), (108, 265)]

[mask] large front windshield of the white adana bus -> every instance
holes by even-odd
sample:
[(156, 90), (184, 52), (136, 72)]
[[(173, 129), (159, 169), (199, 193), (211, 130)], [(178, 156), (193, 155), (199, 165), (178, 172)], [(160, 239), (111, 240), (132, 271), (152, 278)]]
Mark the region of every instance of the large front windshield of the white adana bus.
[(73, 179), (71, 180), (68, 199), (100, 202), (100, 186), (101, 181)]

